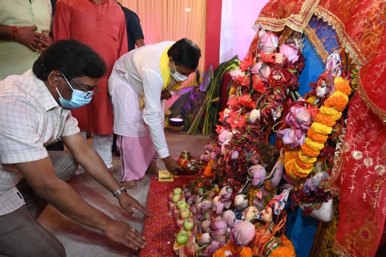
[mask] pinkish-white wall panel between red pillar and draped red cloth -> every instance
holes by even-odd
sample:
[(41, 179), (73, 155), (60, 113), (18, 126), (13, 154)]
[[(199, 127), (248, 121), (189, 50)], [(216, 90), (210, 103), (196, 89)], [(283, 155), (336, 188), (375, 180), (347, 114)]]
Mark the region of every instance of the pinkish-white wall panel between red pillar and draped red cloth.
[(220, 63), (236, 54), (245, 57), (256, 32), (252, 29), (268, 0), (223, 0), (221, 11)]

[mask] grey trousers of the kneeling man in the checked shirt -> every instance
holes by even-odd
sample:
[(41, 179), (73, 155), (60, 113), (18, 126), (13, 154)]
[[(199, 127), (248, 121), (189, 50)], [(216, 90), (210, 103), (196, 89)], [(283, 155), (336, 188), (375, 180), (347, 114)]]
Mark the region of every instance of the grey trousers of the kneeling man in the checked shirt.
[[(67, 181), (78, 165), (68, 152), (48, 152), (58, 178)], [(36, 220), (47, 206), (29, 184), (22, 180), (17, 188), (26, 205), (0, 216), (0, 257), (63, 257), (63, 245)]]

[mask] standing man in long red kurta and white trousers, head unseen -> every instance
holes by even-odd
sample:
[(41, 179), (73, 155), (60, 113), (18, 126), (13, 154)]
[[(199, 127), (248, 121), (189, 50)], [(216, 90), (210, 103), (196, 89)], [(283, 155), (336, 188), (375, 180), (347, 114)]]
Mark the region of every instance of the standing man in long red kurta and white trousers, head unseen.
[(83, 137), (93, 133), (94, 150), (110, 171), (112, 165), (113, 110), (107, 79), (115, 61), (128, 52), (125, 16), (113, 0), (59, 0), (56, 3), (55, 41), (74, 39), (95, 50), (106, 62), (107, 73), (99, 81), (100, 92), (91, 103), (72, 111)]

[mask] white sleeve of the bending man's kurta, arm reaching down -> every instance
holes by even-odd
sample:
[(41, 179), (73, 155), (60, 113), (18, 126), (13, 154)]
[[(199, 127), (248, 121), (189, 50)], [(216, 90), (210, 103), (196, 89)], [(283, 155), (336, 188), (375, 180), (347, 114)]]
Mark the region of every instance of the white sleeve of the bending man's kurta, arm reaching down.
[(142, 70), (144, 103), (143, 120), (149, 127), (153, 145), (160, 158), (169, 156), (165, 133), (163, 131), (163, 115), (161, 108), (162, 77), (148, 69)]

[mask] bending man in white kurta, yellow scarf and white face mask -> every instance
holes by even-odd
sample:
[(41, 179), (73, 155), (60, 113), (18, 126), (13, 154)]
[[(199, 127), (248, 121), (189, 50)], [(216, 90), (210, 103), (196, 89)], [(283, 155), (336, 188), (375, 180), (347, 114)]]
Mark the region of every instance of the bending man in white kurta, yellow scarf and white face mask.
[(163, 132), (163, 99), (194, 72), (200, 48), (188, 39), (146, 45), (123, 55), (109, 79), (114, 133), (119, 135), (121, 182), (135, 188), (146, 171), (157, 172), (155, 156), (170, 172), (180, 171), (170, 157)]

